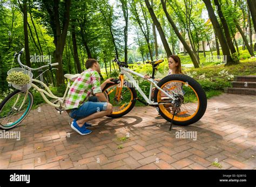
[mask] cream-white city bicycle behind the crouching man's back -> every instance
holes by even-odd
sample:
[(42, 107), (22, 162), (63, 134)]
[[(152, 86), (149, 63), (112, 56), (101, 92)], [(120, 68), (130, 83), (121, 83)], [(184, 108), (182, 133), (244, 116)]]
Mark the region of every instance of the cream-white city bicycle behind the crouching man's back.
[[(16, 53), (15, 57), (17, 57), (18, 63), (22, 68), (15, 68), (15, 69), (20, 69), (23, 71), (25, 74), (31, 74), (31, 71), (38, 71), (43, 68), (48, 68), (47, 70), (50, 69), (56, 69), (52, 68), (53, 66), (58, 66), (58, 63), (52, 63), (48, 64), (36, 69), (30, 68), (28, 66), (25, 66), (22, 64), (20, 57), (24, 51), (24, 48), (21, 50), (21, 52)], [(43, 71), (43, 73), (45, 72)], [(43, 74), (42, 73), (42, 74)], [(42, 81), (42, 74), (40, 74), (38, 77), (41, 77), (41, 81), (33, 79), (31, 80), (30, 86), (28, 87), (27, 90), (22, 91), (22, 90), (15, 90), (11, 92), (7, 97), (5, 97), (0, 104), (0, 127), (7, 130), (10, 128), (14, 128), (18, 124), (21, 124), (21, 122), (28, 116), (32, 105), (33, 105), (33, 95), (32, 92), (29, 91), (30, 87), (35, 88), (39, 93), (41, 93), (41, 96), (45, 100), (45, 102), (53, 107), (56, 108), (60, 112), (60, 114), (65, 111), (65, 98), (66, 95), (69, 91), (70, 88), (70, 83), (73, 78), (78, 77), (80, 74), (76, 75), (71, 75), (71, 74), (65, 74), (64, 76), (68, 78), (68, 87), (66, 87), (65, 93), (63, 97), (57, 97), (53, 95), (51, 90), (47, 87), (46, 84), (43, 83)], [(37, 85), (33, 83), (39, 83), (41, 84), (42, 88), (37, 87)], [(53, 102), (51, 102), (46, 96), (54, 99)]]

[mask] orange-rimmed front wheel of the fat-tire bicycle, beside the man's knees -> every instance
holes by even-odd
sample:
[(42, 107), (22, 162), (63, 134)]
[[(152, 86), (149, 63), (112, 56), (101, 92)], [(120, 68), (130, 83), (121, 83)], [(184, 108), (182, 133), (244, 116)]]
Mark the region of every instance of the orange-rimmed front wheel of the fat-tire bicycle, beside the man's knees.
[[(123, 86), (120, 100), (117, 100), (116, 91), (118, 88), (118, 80), (113, 81), (115, 83), (106, 84), (103, 89), (103, 93), (105, 97), (109, 100), (109, 102), (113, 105), (113, 112), (111, 115), (107, 117), (111, 118), (118, 118), (124, 116), (125, 114), (129, 113), (136, 103), (137, 92), (136, 90), (131, 87)], [(131, 85), (127, 83), (126, 85)]]

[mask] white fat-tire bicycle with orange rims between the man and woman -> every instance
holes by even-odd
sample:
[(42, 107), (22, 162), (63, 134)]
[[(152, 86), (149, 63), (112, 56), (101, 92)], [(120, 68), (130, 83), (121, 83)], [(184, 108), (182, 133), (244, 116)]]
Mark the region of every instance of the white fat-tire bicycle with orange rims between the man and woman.
[[(150, 62), (153, 70), (152, 78), (147, 80), (151, 83), (149, 97), (130, 74), (140, 78), (144, 78), (144, 75), (130, 70), (125, 62), (119, 62), (117, 58), (113, 61), (120, 67), (120, 76), (119, 79), (113, 80), (114, 83), (107, 84), (103, 89), (105, 96), (113, 105), (113, 113), (109, 117), (117, 118), (129, 113), (137, 100), (145, 105), (157, 107), (159, 114), (175, 125), (190, 125), (204, 116), (207, 98), (205, 91), (196, 80), (183, 74), (169, 75), (159, 82), (154, 80), (156, 68), (164, 60)], [(127, 80), (124, 80), (124, 75)], [(156, 89), (151, 99), (153, 86)], [(136, 90), (145, 101), (137, 97)]]

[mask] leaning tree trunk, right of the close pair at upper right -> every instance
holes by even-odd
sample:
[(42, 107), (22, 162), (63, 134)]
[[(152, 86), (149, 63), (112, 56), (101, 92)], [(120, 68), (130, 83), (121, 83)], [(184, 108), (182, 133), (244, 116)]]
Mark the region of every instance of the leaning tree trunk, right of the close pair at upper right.
[(230, 36), (230, 31), (228, 30), (227, 21), (226, 21), (224, 15), (223, 15), (223, 12), (221, 11), (221, 5), (219, 4), (218, 0), (214, 0), (214, 3), (218, 8), (217, 12), (218, 12), (221, 24), (223, 25), (225, 37), (226, 37), (226, 40), (227, 40), (227, 45), (230, 48), (231, 54), (235, 54), (236, 51), (235, 51), (235, 48), (234, 48), (234, 45), (233, 45), (233, 42), (232, 42), (232, 39), (231, 39), (231, 36)]

